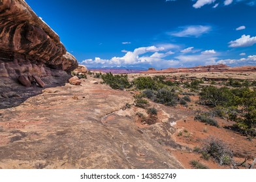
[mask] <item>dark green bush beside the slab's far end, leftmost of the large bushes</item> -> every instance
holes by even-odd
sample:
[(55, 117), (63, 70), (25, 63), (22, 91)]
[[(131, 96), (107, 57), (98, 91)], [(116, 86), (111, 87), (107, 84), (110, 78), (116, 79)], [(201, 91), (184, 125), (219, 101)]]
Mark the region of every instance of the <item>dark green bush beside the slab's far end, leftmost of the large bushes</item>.
[(109, 85), (113, 89), (123, 90), (124, 88), (129, 88), (131, 84), (128, 81), (127, 75), (113, 75), (112, 73), (106, 73), (101, 75), (103, 83)]

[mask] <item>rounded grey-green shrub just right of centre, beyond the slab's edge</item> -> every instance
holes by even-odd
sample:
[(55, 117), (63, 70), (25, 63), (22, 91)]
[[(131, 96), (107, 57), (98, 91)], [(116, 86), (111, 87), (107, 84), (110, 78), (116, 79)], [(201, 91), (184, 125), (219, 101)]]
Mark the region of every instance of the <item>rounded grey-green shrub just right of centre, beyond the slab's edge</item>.
[(174, 93), (173, 90), (162, 88), (157, 90), (155, 102), (168, 106), (175, 106), (178, 102), (178, 96)]

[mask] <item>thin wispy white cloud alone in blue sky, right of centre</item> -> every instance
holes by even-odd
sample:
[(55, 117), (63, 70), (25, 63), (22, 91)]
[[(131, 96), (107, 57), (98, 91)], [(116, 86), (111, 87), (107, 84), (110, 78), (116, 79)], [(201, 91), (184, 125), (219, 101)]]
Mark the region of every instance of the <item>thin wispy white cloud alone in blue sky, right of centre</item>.
[(206, 34), (212, 30), (210, 26), (204, 25), (191, 25), (187, 27), (183, 27), (182, 31), (172, 33), (172, 36), (178, 37), (199, 37), (202, 34)]

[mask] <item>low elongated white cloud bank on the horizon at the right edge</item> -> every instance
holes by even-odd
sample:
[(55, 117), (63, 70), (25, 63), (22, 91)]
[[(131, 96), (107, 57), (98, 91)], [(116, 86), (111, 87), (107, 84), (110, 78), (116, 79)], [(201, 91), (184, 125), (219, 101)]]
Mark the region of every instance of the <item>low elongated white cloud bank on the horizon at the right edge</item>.
[(255, 66), (255, 64), (256, 64), (256, 55), (250, 55), (247, 58), (242, 58), (242, 59), (219, 60), (217, 63), (218, 64), (229, 64), (229, 65), (232, 65), (232, 66), (237, 66), (237, 65)]

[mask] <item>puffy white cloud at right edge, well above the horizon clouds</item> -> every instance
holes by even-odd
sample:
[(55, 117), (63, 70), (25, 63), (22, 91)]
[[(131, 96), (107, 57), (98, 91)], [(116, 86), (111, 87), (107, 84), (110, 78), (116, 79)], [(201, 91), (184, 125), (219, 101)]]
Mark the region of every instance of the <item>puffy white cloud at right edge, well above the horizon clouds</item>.
[(229, 44), (229, 47), (249, 47), (256, 44), (256, 36), (251, 37), (250, 35), (244, 34), (241, 38), (231, 41)]

